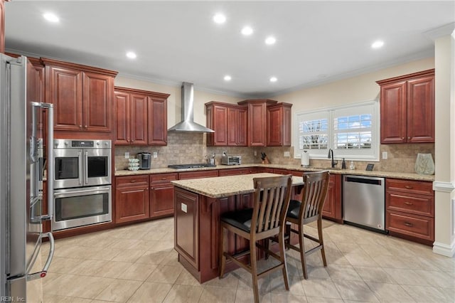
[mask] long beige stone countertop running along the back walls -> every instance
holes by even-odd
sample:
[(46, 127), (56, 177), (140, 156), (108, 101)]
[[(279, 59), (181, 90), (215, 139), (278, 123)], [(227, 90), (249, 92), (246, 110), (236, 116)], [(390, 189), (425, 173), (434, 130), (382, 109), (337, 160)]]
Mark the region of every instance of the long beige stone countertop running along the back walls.
[[(294, 171), (321, 171), (323, 168), (308, 168), (304, 169), (301, 166), (287, 165), (287, 164), (241, 164), (241, 165), (217, 165), (216, 167), (205, 167), (202, 169), (169, 169), (167, 167), (159, 169), (144, 169), (139, 171), (119, 170), (115, 171), (115, 176), (135, 176), (141, 174), (165, 174), (165, 173), (180, 173), (183, 171), (210, 171), (213, 169), (242, 169), (246, 167), (264, 167), (269, 169), (290, 169)], [(365, 171), (362, 169), (325, 169), (330, 171), (331, 174), (352, 174), (357, 176), (378, 176), (385, 178), (408, 179), (418, 181), (434, 181), (434, 175), (421, 175), (412, 173), (400, 173), (396, 171)]]

